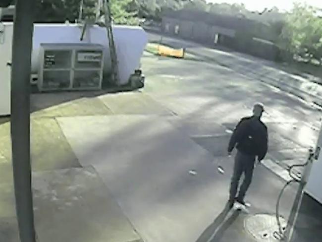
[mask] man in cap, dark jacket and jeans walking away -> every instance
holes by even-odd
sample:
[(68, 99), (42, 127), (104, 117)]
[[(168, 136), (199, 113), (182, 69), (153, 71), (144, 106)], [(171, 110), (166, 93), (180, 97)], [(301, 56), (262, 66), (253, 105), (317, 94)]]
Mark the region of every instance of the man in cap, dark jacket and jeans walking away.
[[(253, 178), (253, 170), (256, 158), (261, 162), (268, 150), (268, 131), (261, 121), (264, 106), (257, 103), (253, 107), (253, 116), (241, 119), (237, 124), (228, 145), (228, 155), (236, 147), (234, 171), (229, 190), (229, 206), (234, 202), (245, 204), (245, 194)], [(239, 180), (244, 173), (245, 178), (236, 197)]]

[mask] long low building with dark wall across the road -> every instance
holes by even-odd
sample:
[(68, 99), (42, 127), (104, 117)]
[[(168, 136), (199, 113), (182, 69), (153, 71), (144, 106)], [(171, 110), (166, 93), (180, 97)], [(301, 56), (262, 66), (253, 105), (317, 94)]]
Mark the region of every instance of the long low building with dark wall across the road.
[[(198, 43), (221, 45), (267, 60), (277, 60), (278, 48), (269, 39), (269, 28), (264, 23), (245, 17), (220, 15), (181, 9), (162, 13), (165, 34), (180, 36)], [(265, 33), (265, 39), (259, 33)]]

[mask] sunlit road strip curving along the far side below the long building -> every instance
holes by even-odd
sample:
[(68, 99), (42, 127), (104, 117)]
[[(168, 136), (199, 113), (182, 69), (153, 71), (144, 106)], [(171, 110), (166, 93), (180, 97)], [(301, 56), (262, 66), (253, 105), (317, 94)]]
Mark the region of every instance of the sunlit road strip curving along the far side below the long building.
[[(150, 41), (160, 41), (161, 39), (157, 33), (150, 33), (149, 36)], [(220, 46), (216, 49), (211, 49), (201, 44), (174, 39), (169, 36), (162, 36), (162, 43), (176, 48), (185, 47), (188, 53), (196, 57), (204, 58), (206, 61), (214, 61), (219, 65), (245, 75), (246, 78), (262, 81), (301, 99), (318, 104), (319, 109), (322, 106), (322, 86), (318, 84), (322, 82), (321, 78), (316, 77), (313, 81), (309, 81), (300, 75), (282, 70), (280, 68), (281, 64), (238, 53)]]

